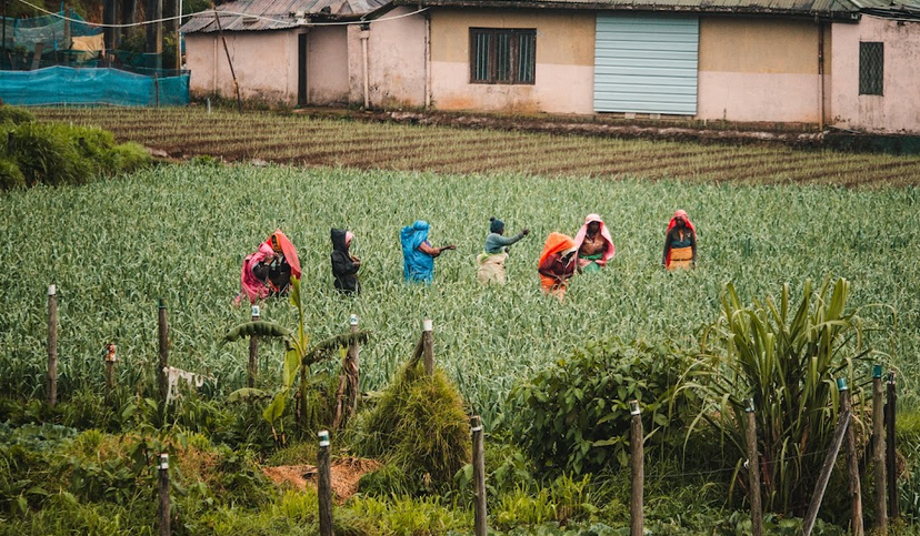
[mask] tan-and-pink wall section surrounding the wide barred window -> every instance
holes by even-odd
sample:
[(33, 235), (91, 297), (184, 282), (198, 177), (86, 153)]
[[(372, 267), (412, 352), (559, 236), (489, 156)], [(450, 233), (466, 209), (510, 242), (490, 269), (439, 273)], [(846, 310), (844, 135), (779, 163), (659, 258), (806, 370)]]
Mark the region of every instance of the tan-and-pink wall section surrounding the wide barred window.
[[(536, 29), (536, 83), (470, 83), (470, 28)], [(431, 10), (431, 99), (437, 109), (592, 113), (593, 84), (593, 12)]]

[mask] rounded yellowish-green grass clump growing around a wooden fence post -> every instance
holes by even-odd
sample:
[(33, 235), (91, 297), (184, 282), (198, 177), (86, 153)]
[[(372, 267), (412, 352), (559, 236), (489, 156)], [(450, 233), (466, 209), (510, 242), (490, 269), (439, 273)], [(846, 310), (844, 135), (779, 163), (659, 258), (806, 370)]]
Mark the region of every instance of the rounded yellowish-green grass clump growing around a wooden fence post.
[(399, 467), (410, 489), (450, 484), (470, 461), (463, 398), (442, 371), (428, 377), (418, 363), (400, 371), (354, 432), (358, 449)]

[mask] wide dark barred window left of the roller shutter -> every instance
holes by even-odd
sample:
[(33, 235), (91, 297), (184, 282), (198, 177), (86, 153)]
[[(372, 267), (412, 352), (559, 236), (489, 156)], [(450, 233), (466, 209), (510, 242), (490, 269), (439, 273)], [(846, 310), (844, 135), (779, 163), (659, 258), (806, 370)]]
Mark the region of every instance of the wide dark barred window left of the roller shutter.
[(470, 28), (470, 83), (534, 82), (537, 30)]

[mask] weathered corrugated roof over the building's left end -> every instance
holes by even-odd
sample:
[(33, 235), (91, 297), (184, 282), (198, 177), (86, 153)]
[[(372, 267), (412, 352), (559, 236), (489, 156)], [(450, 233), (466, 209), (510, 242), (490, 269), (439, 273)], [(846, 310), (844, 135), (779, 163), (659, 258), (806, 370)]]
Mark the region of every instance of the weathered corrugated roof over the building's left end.
[[(237, 0), (219, 6), (217, 11), (226, 31), (283, 30), (301, 26), (294, 17), (298, 12), (322, 20), (353, 19), (387, 3), (388, 0)], [(181, 28), (184, 33), (217, 30), (214, 13), (210, 11), (192, 17)]]

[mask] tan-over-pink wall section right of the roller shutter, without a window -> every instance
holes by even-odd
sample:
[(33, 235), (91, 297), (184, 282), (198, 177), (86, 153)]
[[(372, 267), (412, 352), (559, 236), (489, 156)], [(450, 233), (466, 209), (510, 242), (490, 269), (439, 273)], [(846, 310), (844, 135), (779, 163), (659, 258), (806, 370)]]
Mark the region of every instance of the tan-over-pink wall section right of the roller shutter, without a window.
[(819, 29), (792, 19), (701, 17), (697, 118), (817, 123), (822, 108), (829, 115), (830, 28), (823, 98)]

